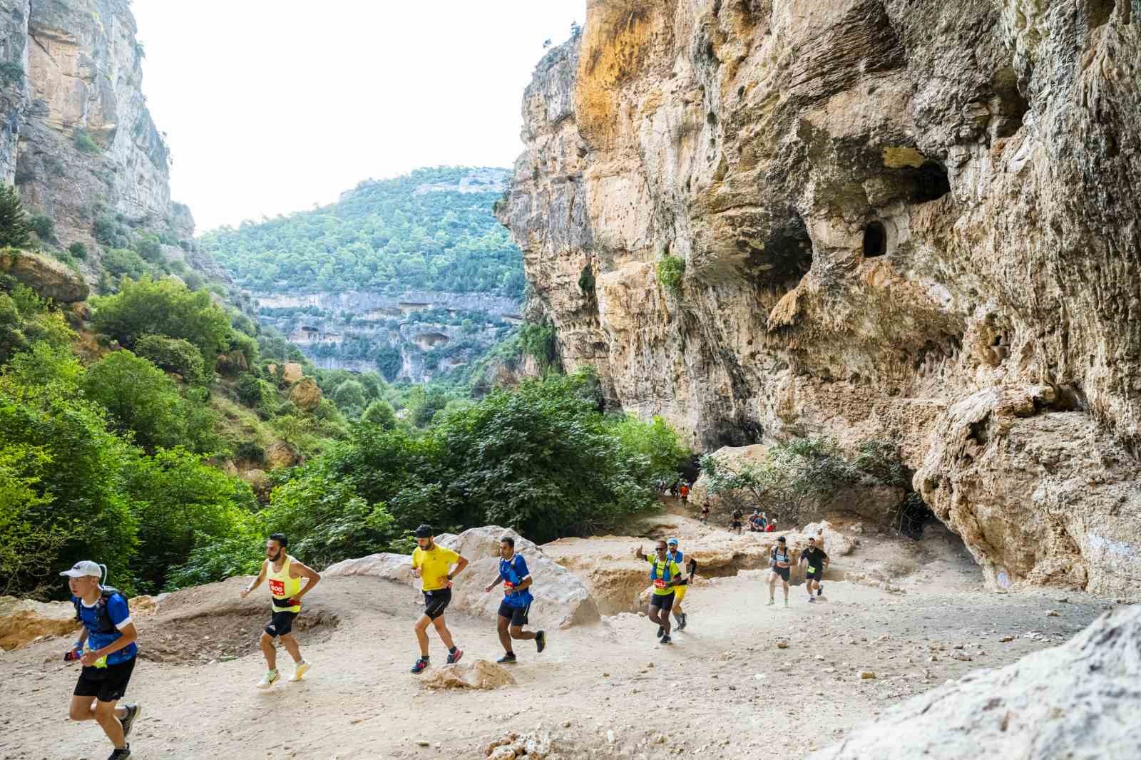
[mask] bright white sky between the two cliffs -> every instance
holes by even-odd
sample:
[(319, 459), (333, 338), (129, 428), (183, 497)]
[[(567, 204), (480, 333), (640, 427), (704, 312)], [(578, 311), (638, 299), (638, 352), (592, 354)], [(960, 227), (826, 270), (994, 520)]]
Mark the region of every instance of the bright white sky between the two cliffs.
[(510, 168), (523, 91), (586, 0), (135, 0), (143, 91), (202, 233), (362, 179)]

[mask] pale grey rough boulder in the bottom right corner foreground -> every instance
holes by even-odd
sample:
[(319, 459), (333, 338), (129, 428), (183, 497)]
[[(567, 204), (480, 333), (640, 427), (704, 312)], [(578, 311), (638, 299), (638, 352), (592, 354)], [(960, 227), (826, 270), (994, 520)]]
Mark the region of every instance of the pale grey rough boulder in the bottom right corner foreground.
[(889, 708), (809, 760), (1141, 758), (1139, 682), (1141, 607), (1118, 607), (1060, 647)]

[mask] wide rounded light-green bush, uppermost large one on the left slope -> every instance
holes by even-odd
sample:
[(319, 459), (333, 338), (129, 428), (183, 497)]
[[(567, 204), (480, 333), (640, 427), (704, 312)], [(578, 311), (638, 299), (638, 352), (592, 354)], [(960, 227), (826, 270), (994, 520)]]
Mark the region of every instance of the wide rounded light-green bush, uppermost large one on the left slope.
[(145, 334), (181, 338), (199, 349), (204, 372), (213, 373), (219, 351), (229, 348), (229, 317), (210, 294), (191, 292), (173, 277), (127, 280), (119, 294), (92, 299), (97, 332), (132, 347)]

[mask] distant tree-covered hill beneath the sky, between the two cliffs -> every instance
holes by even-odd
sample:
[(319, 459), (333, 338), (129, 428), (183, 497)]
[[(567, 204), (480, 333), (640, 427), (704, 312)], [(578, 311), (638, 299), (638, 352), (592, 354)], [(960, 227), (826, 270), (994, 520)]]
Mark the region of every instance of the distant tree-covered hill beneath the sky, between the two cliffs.
[(492, 216), (496, 193), (430, 192), (470, 169), (440, 167), (362, 183), (314, 211), (207, 233), (235, 282), (259, 291), (407, 290), (523, 294), (523, 259)]

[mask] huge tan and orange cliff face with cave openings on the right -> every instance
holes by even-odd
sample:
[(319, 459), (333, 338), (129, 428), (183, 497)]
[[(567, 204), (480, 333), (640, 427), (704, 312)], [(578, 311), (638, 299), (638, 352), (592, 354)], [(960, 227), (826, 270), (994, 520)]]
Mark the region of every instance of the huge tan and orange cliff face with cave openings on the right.
[(1139, 5), (590, 0), (499, 210), (531, 308), (697, 446), (892, 438), (995, 587), (1141, 599)]

